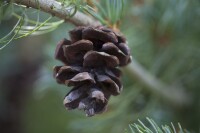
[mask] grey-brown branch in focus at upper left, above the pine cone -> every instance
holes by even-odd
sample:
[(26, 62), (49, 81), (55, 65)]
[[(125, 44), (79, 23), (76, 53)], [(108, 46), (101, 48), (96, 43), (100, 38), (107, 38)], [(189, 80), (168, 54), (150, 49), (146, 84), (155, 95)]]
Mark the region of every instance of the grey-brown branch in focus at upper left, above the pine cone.
[(25, 5), (27, 7), (32, 7), (35, 9), (42, 10), (46, 13), (52, 14), (60, 19), (71, 22), (77, 26), (98, 26), (100, 23), (93, 18), (85, 15), (81, 12), (77, 12), (73, 17), (69, 18), (70, 13), (68, 10), (60, 3), (55, 0), (13, 0), (16, 4)]

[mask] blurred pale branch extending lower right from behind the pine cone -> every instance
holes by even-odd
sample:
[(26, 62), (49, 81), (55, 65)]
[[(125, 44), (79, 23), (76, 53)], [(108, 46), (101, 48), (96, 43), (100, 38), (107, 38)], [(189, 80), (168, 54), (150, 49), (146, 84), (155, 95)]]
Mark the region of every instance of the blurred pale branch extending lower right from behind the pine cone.
[(191, 97), (180, 86), (169, 86), (145, 70), (135, 59), (123, 69), (131, 79), (137, 79), (145, 89), (157, 95), (163, 101), (175, 107), (190, 105)]

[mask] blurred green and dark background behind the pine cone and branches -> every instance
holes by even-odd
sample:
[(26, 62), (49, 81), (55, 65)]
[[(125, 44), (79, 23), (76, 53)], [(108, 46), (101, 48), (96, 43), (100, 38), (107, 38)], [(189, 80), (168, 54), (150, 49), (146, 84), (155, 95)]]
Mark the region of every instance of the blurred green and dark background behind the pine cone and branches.
[[(0, 14), (1, 37), (16, 23), (6, 8)], [(36, 18), (35, 10), (26, 10)], [(40, 21), (48, 16), (40, 13)], [(107, 112), (88, 118), (81, 111), (67, 111), (63, 98), (70, 88), (57, 84), (52, 73), (61, 64), (54, 59), (56, 44), (69, 38), (73, 28), (63, 23), (50, 33), (13, 40), (0, 50), (1, 133), (123, 133), (128, 124), (145, 122), (146, 117), (159, 125), (180, 122), (200, 132), (199, 0), (126, 0), (120, 21), (134, 59), (162, 82), (182, 86), (192, 97), (187, 106), (163, 102), (124, 72), (124, 90), (111, 97)]]

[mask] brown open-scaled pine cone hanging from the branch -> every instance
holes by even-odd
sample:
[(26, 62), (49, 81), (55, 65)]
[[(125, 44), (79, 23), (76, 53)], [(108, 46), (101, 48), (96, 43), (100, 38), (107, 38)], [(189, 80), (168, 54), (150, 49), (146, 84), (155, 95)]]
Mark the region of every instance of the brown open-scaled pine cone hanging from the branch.
[(71, 40), (63, 39), (55, 52), (65, 65), (54, 68), (54, 77), (73, 86), (63, 103), (67, 109), (84, 110), (87, 116), (102, 113), (110, 96), (122, 91), (117, 67), (131, 61), (126, 39), (103, 26), (77, 27), (69, 35)]

